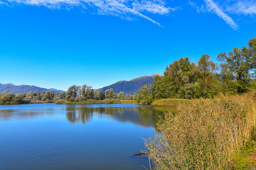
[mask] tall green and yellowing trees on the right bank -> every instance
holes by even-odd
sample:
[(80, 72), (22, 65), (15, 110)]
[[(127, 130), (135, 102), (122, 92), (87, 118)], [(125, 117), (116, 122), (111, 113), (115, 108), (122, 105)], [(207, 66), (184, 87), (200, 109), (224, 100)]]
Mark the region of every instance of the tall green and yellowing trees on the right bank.
[(242, 94), (256, 88), (256, 38), (247, 47), (220, 53), (218, 63), (202, 55), (197, 63), (181, 57), (166, 67), (164, 77), (155, 77), (151, 86), (140, 89), (137, 101), (144, 104), (159, 98), (213, 98)]

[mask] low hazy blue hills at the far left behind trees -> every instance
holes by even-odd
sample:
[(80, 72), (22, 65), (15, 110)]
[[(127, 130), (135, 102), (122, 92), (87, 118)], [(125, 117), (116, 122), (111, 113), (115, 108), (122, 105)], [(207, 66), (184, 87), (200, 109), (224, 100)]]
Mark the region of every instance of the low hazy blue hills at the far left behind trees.
[(55, 91), (55, 92), (63, 92), (61, 90), (57, 89), (46, 89), (46, 88), (41, 88), (38, 86), (29, 86), (29, 85), (21, 85), (21, 86), (16, 86), (14, 84), (0, 84), (0, 93), (12, 93), (12, 94), (18, 94), (21, 93), (23, 94), (28, 93), (29, 91)]

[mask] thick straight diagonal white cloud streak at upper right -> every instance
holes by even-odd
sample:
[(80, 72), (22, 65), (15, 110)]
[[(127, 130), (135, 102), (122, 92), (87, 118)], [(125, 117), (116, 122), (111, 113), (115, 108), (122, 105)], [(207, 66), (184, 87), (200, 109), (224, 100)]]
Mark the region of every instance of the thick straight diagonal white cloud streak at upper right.
[(234, 30), (238, 30), (238, 24), (233, 21), (233, 18), (228, 16), (226, 13), (223, 12), (223, 10), (213, 2), (213, 0), (204, 0), (206, 2), (206, 6), (208, 7), (208, 11), (213, 11), (216, 13), (220, 18), (223, 18), (223, 20), (228, 23), (228, 25), (233, 28)]

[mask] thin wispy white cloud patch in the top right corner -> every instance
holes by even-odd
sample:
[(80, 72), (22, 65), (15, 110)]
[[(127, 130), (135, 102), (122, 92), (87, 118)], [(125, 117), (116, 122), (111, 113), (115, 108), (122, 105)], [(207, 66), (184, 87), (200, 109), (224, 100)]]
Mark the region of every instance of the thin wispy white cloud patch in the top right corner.
[(232, 6), (228, 6), (227, 10), (232, 13), (255, 15), (256, 14), (256, 2), (255, 1), (237, 1)]

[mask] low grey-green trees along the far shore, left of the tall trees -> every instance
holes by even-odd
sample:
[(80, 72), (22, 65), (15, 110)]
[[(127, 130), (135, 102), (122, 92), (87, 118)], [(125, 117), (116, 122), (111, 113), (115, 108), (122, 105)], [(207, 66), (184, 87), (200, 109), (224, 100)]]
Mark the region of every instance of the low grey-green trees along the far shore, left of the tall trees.
[(101, 90), (95, 91), (92, 86), (70, 86), (65, 93), (54, 91), (30, 91), (27, 94), (0, 93), (0, 104), (26, 104), (26, 103), (121, 103), (122, 100), (136, 100), (138, 94), (124, 96), (121, 91), (116, 94), (113, 89), (105, 93)]

